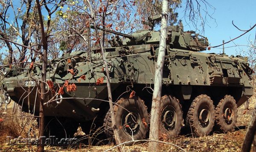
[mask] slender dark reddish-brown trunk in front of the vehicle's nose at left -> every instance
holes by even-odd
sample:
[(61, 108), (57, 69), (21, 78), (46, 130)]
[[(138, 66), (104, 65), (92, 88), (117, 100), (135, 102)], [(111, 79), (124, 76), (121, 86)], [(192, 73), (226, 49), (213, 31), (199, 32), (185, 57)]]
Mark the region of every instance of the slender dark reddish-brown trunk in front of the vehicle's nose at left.
[(36, 0), (37, 7), (38, 7), (38, 14), (39, 14), (39, 21), (41, 27), (41, 41), (43, 43), (43, 65), (42, 65), (42, 82), (41, 82), (41, 96), (40, 96), (40, 126), (39, 126), (39, 146), (38, 152), (44, 152), (44, 100), (45, 100), (45, 83), (46, 82), (46, 68), (47, 68), (47, 38), (44, 33), (44, 21), (41, 13), (41, 6), (39, 0)]

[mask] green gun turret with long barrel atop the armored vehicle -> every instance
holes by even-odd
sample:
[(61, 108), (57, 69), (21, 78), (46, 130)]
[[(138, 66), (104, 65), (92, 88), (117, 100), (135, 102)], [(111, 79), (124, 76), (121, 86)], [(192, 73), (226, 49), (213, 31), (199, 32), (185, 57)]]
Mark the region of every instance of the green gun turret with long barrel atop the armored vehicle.
[[(94, 26), (91, 26), (94, 29)], [(112, 47), (118, 46), (135, 46), (143, 44), (157, 44), (160, 41), (160, 31), (154, 31), (151, 29), (138, 30), (132, 34), (123, 34), (109, 29), (97, 29), (115, 34), (111, 36), (111, 40), (108, 42)], [(125, 37), (122, 40), (119, 36)], [(170, 48), (185, 49), (190, 51), (204, 51), (208, 46), (207, 37), (201, 36), (195, 33), (195, 31), (183, 32), (183, 26), (168, 26), (167, 27), (167, 40), (166, 44)]]

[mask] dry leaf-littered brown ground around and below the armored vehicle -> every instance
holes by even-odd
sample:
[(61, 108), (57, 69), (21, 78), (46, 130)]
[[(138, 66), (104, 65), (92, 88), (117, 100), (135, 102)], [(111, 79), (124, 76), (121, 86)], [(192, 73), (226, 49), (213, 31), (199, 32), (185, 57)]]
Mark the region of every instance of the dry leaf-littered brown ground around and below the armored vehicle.
[[(172, 140), (163, 140), (165, 142), (169, 142), (180, 146), (187, 152), (206, 152), (206, 151), (219, 151), (219, 152), (239, 152), (241, 151), (241, 145), (243, 143), (244, 135), (247, 129), (247, 124), (250, 121), (250, 115), (253, 112), (254, 105), (256, 104), (256, 99), (250, 99), (249, 110), (244, 110), (244, 105), (239, 107), (238, 111), (238, 122), (237, 127), (233, 132), (228, 132), (226, 134), (221, 134), (218, 132), (212, 132), (211, 135), (205, 137), (193, 137), (192, 135), (179, 135), (177, 138)], [(6, 116), (6, 114), (5, 114)], [(0, 118), (3, 118), (3, 114), (0, 115)], [(28, 121), (32, 120), (27, 117)], [(0, 120), (1, 121), (1, 120)], [(26, 122), (25, 120), (22, 120)], [(35, 121), (35, 120), (32, 120)], [(6, 143), (6, 136), (12, 132), (12, 129), (6, 130), (3, 123), (0, 122), (0, 151), (36, 151), (36, 146), (28, 146), (24, 144), (8, 144)], [(17, 122), (17, 121), (15, 121)], [(15, 122), (13, 125), (15, 126)], [(17, 129), (17, 128), (16, 128)], [(28, 128), (29, 129), (29, 128)], [(31, 129), (31, 127), (30, 127)], [(37, 131), (34, 132), (33, 135), (29, 137), (36, 136), (38, 134)], [(23, 135), (24, 137), (25, 135)], [(56, 146), (45, 146), (45, 150), (51, 152), (99, 152), (106, 151), (111, 149), (114, 145), (107, 144), (104, 146), (88, 146), (86, 144), (79, 144), (78, 146), (66, 146), (66, 147), (56, 147)], [(147, 152), (148, 143), (137, 143), (131, 146), (123, 146), (125, 152)], [(178, 149), (176, 146), (172, 146), (166, 143), (160, 143), (160, 149), (163, 152), (177, 152), (182, 151)], [(117, 152), (117, 149), (111, 149), (111, 152)]]

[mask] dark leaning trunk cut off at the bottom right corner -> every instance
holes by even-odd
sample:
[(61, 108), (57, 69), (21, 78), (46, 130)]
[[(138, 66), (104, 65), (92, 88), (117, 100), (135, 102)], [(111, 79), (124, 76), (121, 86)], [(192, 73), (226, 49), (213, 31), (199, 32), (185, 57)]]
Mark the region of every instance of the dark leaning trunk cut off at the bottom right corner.
[(244, 137), (244, 143), (242, 145), (241, 152), (250, 152), (253, 140), (255, 140), (255, 134), (256, 134), (256, 104), (254, 106), (252, 118), (250, 120), (248, 129)]

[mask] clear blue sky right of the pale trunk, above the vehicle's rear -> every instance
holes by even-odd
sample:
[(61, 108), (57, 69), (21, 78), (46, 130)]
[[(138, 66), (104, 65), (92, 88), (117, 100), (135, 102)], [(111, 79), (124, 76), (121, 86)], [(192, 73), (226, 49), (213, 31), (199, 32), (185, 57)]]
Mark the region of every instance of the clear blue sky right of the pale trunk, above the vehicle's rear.
[[(200, 0), (199, 0), (200, 1)], [(247, 30), (250, 29), (254, 24), (256, 24), (256, 0), (207, 0), (209, 4), (211, 4), (215, 9), (211, 9), (207, 7), (209, 14), (211, 14), (212, 18), (207, 18), (207, 23), (204, 26), (204, 36), (206, 36), (209, 40), (211, 46), (217, 46), (222, 44), (222, 40), (225, 42), (238, 37), (239, 35), (243, 34), (244, 32), (239, 31), (232, 25), (232, 20), (234, 24), (239, 27), (239, 29)], [(185, 22), (184, 18), (184, 8), (186, 7), (185, 4), (186, 0), (183, 0), (182, 7), (177, 9), (179, 14), (179, 19), (183, 20), (184, 31), (188, 30), (195, 30), (192, 26), (192, 23)], [(204, 5), (202, 5), (201, 12), (204, 15), (203, 9), (205, 10)], [(202, 30), (200, 26), (198, 29)], [(197, 31), (200, 32), (200, 31)], [(228, 55), (236, 55), (242, 52), (243, 50), (246, 51), (248, 48), (247, 46), (236, 46), (230, 47), (235, 45), (248, 45), (248, 41), (252, 40), (254, 42), (256, 37), (256, 27), (244, 34), (242, 37), (234, 40), (235, 43), (228, 43), (225, 44), (225, 53)], [(229, 47), (229, 48), (227, 48)], [(207, 53), (214, 52), (214, 53), (222, 53), (222, 46), (216, 48), (211, 48), (209, 51), (205, 51)]]

